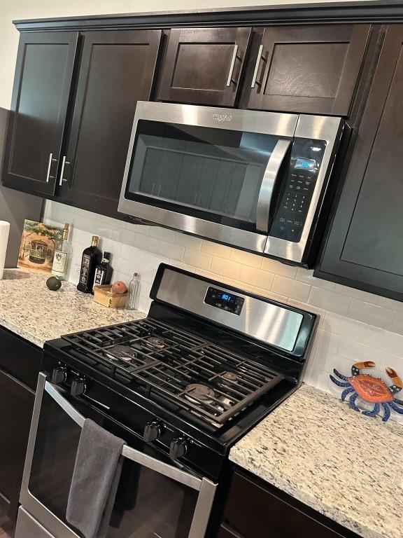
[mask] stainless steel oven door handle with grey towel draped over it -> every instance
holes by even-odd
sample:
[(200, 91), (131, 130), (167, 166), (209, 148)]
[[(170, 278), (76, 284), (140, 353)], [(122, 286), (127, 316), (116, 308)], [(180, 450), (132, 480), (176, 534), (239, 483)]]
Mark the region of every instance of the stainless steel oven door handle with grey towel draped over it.
[[(78, 426), (81, 428), (84, 426), (85, 417), (83, 417), (83, 415), (81, 415), (81, 413), (79, 413), (76, 408), (64, 398), (64, 396), (62, 396), (59, 389), (57, 389), (55, 385), (45, 381), (45, 391), (52, 396), (52, 399), (59, 404), (63, 411), (67, 413), (67, 415), (69, 415), (69, 417), (74, 420)], [(163, 474), (168, 478), (172, 478), (172, 480), (176, 482), (188, 485), (189, 488), (197, 491), (201, 490), (202, 484), (206, 480), (206, 478), (198, 478), (197, 476), (182, 471), (181, 469), (177, 469), (172, 465), (161, 462), (160, 460), (155, 459), (155, 457), (144, 454), (128, 445), (125, 445), (122, 448), (122, 456), (127, 457), (128, 460), (132, 460), (132, 462), (138, 463), (143, 467), (147, 467), (148, 469), (151, 469), (159, 474)], [(213, 483), (211, 484), (213, 485)]]

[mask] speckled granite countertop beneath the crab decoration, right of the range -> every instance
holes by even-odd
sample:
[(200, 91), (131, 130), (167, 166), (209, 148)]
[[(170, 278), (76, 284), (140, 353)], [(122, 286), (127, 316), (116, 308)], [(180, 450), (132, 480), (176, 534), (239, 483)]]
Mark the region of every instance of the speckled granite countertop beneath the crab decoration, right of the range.
[(302, 385), (229, 459), (365, 538), (401, 538), (403, 428)]

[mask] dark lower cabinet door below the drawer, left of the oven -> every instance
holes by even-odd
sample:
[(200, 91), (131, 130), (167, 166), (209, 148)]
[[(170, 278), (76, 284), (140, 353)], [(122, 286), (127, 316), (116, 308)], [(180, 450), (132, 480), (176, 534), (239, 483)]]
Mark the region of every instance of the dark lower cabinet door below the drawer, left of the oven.
[(17, 516), (34, 399), (33, 391), (0, 370), (0, 509), (10, 519)]

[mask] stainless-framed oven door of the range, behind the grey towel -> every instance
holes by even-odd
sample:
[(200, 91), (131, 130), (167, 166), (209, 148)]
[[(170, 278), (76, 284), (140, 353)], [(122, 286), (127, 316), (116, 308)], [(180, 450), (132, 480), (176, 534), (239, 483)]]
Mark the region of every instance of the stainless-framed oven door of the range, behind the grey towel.
[[(134, 432), (108, 418), (107, 411), (99, 411), (85, 399), (72, 399), (46, 381), (43, 373), (29, 434), (21, 517), (28, 513), (54, 538), (82, 537), (66, 522), (65, 514), (85, 418), (128, 443), (122, 450), (125, 460), (107, 537), (203, 538), (216, 485), (175, 466)], [(18, 526), (15, 538), (27, 538), (18, 535)]]

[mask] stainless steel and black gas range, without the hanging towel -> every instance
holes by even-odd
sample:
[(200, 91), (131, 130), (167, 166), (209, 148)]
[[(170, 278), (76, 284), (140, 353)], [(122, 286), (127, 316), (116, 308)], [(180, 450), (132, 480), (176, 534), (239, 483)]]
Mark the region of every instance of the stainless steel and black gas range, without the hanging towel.
[(203, 538), (231, 446), (290, 395), (316, 315), (160, 265), (146, 319), (45, 344), (16, 538), (73, 538), (85, 418), (127, 441), (108, 538)]

